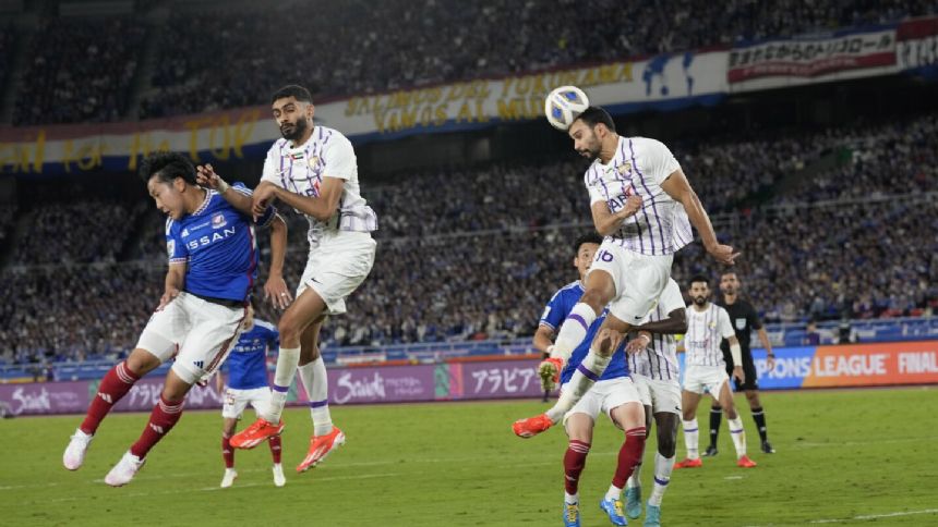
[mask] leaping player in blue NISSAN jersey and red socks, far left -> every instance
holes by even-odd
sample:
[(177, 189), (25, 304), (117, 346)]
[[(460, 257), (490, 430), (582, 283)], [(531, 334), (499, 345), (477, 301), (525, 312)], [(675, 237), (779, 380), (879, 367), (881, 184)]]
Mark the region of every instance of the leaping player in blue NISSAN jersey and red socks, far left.
[[(287, 228), (275, 209), (266, 209), (255, 222), (215, 191), (200, 187), (195, 167), (179, 154), (154, 154), (144, 160), (140, 173), (156, 207), (169, 217), (166, 221), (169, 270), (164, 294), (128, 359), (101, 380), (84, 422), (62, 456), (65, 468), (80, 468), (98, 425), (110, 408), (141, 377), (176, 357), (149, 422), (105, 477), (105, 482), (112, 487), (133, 479), (149, 450), (179, 420), (192, 384), (216, 371), (237, 342), (257, 279), (255, 223), (273, 225), (270, 279), (275, 283), (268, 283), (267, 291), (286, 291), (279, 277)], [(243, 186), (239, 192), (251, 193)]]

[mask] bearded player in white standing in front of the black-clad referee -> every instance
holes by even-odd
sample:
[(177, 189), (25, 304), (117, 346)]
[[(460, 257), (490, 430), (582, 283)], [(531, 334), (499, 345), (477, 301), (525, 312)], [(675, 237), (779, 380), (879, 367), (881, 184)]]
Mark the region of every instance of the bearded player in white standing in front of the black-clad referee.
[[(720, 401), (726, 410), (726, 422), (730, 425), (730, 436), (736, 448), (736, 465), (751, 468), (756, 463), (746, 455), (746, 432), (743, 420), (736, 413), (733, 403), (733, 390), (730, 388), (730, 377), (726, 376), (726, 363), (720, 343), (723, 339), (730, 342), (730, 353), (733, 364), (741, 365), (742, 351), (736, 332), (730, 322), (725, 309), (710, 302), (710, 284), (705, 277), (690, 279), (690, 298), (687, 306), (687, 333), (684, 334), (684, 350), (687, 354), (684, 372), (684, 443), (687, 446), (687, 458), (677, 463), (677, 468), (695, 468), (702, 466), (698, 452), (699, 427), (697, 426), (697, 405), (705, 392)], [(745, 382), (742, 366), (733, 368), (733, 377)]]

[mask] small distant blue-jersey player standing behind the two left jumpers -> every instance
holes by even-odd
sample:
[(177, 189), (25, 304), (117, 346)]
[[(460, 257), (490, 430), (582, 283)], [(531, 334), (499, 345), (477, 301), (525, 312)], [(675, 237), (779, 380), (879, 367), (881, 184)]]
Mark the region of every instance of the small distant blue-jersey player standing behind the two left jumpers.
[[(277, 327), (254, 318), (254, 307), (249, 305), (248, 316), (241, 324), (241, 336), (225, 361), (228, 388), (225, 389), (220, 373), (216, 378), (218, 391), (225, 394), (225, 404), (221, 406), (221, 418), (225, 419), (221, 429), (221, 456), (225, 458), (223, 489), (231, 487), (238, 478), (238, 471), (234, 470), (234, 449), (230, 440), (241, 414), (249, 404), (256, 413), (270, 402), (270, 389), (267, 387), (267, 351), (276, 350), (279, 345), (280, 334)], [(272, 436), (267, 444), (274, 457), (274, 485), (282, 487), (287, 480), (280, 464), (280, 436)]]

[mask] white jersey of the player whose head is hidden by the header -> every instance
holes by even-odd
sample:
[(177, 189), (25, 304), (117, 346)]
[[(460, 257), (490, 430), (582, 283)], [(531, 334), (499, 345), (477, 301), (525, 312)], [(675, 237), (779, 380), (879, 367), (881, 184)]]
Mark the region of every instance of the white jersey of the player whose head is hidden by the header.
[[(684, 309), (684, 297), (677, 282), (668, 279), (658, 305), (640, 323), (666, 320), (668, 315), (675, 309)], [(652, 333), (651, 342), (644, 352), (628, 355), (628, 371), (656, 380), (677, 382), (677, 341), (674, 335)]]

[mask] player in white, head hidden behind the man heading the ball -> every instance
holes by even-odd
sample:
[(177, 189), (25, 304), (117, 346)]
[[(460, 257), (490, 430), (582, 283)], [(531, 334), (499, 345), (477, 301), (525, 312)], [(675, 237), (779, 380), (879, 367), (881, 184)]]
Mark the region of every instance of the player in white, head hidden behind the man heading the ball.
[[(681, 286), (673, 279), (669, 279), (658, 304), (642, 324), (636, 328), (638, 335), (632, 339), (626, 347), (628, 370), (645, 405), (646, 429), (651, 429), (652, 415), (658, 429), (654, 486), (646, 512), (646, 518), (653, 518), (658, 523), (661, 522), (661, 500), (674, 468), (677, 424), (681, 419), (681, 383), (675, 334), (686, 330), (687, 319)], [(636, 466), (626, 482), (625, 513), (630, 518), (641, 515), (640, 468), (641, 464)]]

